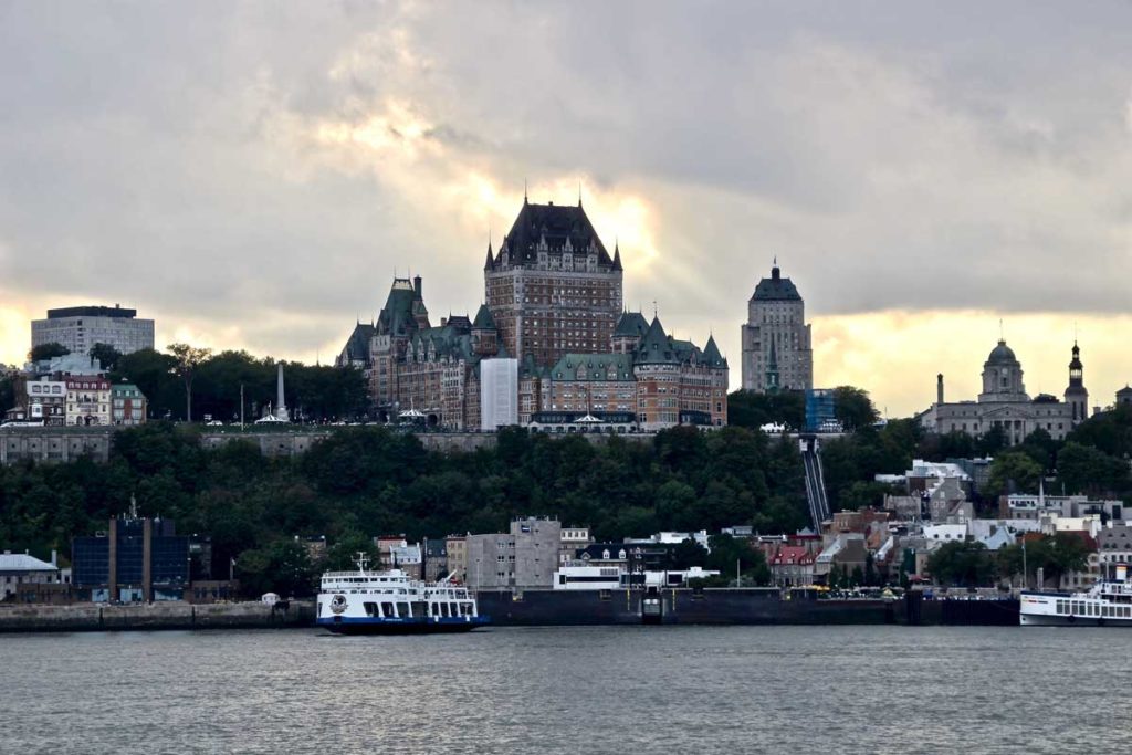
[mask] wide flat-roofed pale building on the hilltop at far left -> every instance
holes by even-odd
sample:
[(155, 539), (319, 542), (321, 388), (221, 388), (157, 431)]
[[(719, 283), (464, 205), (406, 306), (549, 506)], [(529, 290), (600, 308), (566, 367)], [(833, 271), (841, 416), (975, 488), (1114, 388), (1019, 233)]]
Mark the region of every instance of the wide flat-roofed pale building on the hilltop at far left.
[(72, 354), (86, 354), (96, 343), (123, 354), (153, 349), (153, 320), (138, 319), (136, 309), (66, 307), (49, 309), (48, 318), (32, 320), (32, 346), (58, 343)]

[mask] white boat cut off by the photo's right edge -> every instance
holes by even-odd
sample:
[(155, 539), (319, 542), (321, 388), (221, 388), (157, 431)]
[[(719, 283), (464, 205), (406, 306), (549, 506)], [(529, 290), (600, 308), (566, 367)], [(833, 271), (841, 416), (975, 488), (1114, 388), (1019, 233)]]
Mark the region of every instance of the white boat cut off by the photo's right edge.
[(1132, 580), (1127, 566), (1116, 565), (1116, 578), (1103, 580), (1086, 592), (1022, 591), (1021, 626), (1132, 627)]

